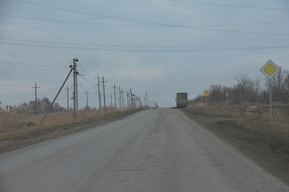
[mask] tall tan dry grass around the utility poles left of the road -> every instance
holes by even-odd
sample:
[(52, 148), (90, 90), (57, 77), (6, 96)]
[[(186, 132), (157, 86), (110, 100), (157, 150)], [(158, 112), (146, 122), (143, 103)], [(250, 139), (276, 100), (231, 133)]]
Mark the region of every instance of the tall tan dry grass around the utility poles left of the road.
[[(0, 139), (7, 139), (29, 134), (36, 130), (53, 129), (60, 126), (94, 123), (97, 121), (117, 118), (124, 113), (130, 113), (132, 109), (122, 111), (114, 108), (104, 110), (83, 110), (77, 112), (74, 119), (73, 113), (57, 112), (50, 113), (44, 122), (41, 122), (44, 114), (25, 114), (17, 110), (0, 112)], [(133, 110), (134, 111), (134, 110)]]

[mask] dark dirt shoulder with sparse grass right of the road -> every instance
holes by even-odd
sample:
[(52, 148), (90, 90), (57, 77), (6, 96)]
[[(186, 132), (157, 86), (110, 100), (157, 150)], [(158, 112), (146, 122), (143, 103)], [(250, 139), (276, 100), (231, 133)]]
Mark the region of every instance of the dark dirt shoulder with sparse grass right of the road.
[[(289, 185), (289, 135), (250, 129), (250, 118), (182, 111), (203, 128), (254, 160), (258, 166)], [(249, 122), (249, 123), (248, 123)], [(258, 126), (253, 124), (251, 126)], [(260, 125), (259, 125), (260, 126)]]

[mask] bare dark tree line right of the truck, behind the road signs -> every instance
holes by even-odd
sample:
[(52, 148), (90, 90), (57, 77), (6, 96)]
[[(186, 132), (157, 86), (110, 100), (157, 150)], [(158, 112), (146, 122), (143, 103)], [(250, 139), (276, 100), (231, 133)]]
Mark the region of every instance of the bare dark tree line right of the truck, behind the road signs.
[[(269, 103), (269, 80), (263, 83), (260, 79), (250, 79), (242, 74), (235, 78), (236, 84), (231, 87), (220, 84), (211, 85), (207, 96), (210, 105), (240, 105), (248, 102), (252, 104)], [(280, 70), (272, 79), (272, 101), (289, 103), (289, 71)], [(191, 103), (203, 103), (205, 95), (199, 95)]]

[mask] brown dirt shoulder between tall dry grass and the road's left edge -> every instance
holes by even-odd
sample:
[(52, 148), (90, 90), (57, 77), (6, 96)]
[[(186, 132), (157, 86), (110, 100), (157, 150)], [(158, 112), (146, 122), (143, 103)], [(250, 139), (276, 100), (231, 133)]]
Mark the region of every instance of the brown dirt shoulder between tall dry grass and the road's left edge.
[(12, 138), (0, 140), (0, 154), (27, 147), (42, 141), (54, 139), (71, 133), (76, 133), (86, 129), (90, 129), (104, 123), (119, 120), (127, 117), (139, 110), (129, 110), (123, 112), (115, 112), (102, 117), (101, 119), (90, 120), (82, 123), (74, 123), (65, 126), (58, 126), (45, 129), (34, 129), (24, 134), (17, 135)]

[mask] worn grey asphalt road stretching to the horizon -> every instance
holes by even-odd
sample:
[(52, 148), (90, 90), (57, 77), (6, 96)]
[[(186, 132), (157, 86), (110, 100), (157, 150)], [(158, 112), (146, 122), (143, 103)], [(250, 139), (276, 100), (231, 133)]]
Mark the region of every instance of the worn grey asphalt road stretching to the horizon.
[(278, 192), (289, 187), (176, 109), (0, 155), (1, 192)]

